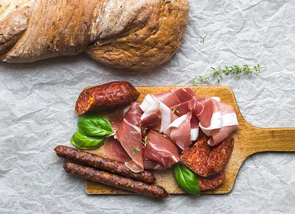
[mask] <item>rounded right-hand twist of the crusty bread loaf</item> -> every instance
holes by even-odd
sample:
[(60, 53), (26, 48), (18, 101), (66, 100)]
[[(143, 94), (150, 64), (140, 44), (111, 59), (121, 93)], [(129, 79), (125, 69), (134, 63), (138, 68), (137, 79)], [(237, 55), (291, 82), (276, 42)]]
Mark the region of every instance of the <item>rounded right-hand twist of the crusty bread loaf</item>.
[(186, 31), (188, 8), (187, 0), (150, 2), (138, 11), (123, 33), (97, 39), (85, 52), (117, 68), (155, 67), (169, 60), (179, 48)]

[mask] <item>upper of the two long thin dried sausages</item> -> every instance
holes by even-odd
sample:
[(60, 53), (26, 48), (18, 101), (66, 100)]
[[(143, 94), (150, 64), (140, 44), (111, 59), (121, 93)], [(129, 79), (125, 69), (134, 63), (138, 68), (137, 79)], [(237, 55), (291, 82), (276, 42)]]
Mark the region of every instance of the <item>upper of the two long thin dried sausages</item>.
[(125, 166), (123, 162), (117, 160), (112, 160), (68, 146), (58, 146), (54, 150), (56, 151), (59, 158), (74, 160), (97, 169), (117, 173), (125, 177), (133, 178), (146, 183), (153, 183), (156, 180), (153, 173), (149, 171), (143, 171), (139, 173), (132, 172)]

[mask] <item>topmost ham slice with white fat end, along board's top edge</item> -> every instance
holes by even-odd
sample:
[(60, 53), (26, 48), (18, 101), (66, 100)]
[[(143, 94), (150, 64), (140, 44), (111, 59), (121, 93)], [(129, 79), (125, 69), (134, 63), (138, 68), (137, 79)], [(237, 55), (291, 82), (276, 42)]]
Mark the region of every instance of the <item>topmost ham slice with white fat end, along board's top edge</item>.
[(165, 106), (171, 108), (178, 104), (196, 99), (196, 94), (190, 88), (177, 88), (171, 91), (166, 91), (158, 94), (148, 94), (143, 103), (140, 105), (145, 112), (155, 102), (159, 101)]

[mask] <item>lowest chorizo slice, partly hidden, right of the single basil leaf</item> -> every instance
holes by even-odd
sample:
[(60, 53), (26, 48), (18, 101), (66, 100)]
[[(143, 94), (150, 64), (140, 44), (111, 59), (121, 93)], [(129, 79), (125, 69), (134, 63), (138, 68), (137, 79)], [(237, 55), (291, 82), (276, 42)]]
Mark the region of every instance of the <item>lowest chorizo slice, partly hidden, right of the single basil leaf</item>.
[(208, 177), (197, 176), (197, 179), (201, 190), (213, 189), (221, 185), (225, 180), (225, 172), (221, 170), (217, 174)]

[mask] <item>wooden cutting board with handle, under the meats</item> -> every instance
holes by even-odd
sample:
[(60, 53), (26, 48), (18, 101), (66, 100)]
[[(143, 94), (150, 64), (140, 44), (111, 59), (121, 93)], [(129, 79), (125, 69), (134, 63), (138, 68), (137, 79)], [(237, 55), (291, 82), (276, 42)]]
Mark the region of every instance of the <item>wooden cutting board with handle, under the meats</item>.
[[(165, 92), (187, 86), (149, 86), (136, 87), (140, 92), (137, 101), (139, 104), (147, 94)], [(235, 146), (230, 160), (226, 166), (226, 180), (219, 187), (202, 191), (202, 193), (228, 193), (232, 190), (237, 172), (243, 161), (250, 155), (264, 151), (295, 151), (295, 128), (266, 129), (250, 125), (241, 115), (233, 91), (225, 86), (192, 86), (190, 87), (197, 97), (220, 97), (221, 102), (235, 108), (240, 129), (232, 136), (235, 138)], [(259, 113), (259, 112), (258, 112)], [(101, 115), (107, 116), (107, 115)], [(103, 155), (103, 146), (89, 152)], [(153, 170), (156, 176), (155, 184), (165, 187), (170, 194), (187, 194), (175, 182), (172, 168), (166, 170)], [(85, 188), (88, 194), (133, 194), (133, 192), (106, 186), (85, 180)]]

